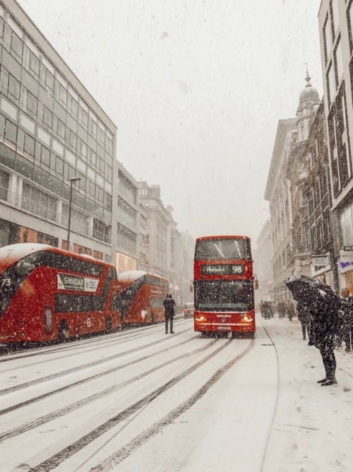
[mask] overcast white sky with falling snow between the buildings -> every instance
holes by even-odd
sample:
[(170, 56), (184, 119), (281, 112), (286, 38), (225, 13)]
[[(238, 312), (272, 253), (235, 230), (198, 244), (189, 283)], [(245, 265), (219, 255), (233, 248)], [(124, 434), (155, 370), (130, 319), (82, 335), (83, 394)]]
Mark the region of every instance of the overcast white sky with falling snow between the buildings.
[(295, 117), (306, 63), (323, 95), (320, 0), (18, 1), (179, 230), (256, 242), (277, 123)]

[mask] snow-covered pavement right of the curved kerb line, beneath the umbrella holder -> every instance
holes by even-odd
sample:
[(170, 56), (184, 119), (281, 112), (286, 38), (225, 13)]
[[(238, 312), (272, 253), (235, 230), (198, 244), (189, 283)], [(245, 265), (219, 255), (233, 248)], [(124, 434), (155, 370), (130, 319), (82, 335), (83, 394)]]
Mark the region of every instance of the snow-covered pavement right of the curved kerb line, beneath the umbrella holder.
[(353, 353), (335, 350), (338, 385), (321, 387), (318, 349), (294, 318), (261, 319), (275, 344), (279, 397), (263, 472), (346, 472), (353, 468)]

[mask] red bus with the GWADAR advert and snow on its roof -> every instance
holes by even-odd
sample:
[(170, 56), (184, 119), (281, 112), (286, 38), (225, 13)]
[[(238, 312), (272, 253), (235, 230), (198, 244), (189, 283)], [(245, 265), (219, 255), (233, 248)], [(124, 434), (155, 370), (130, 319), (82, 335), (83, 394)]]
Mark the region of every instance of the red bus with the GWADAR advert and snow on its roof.
[(0, 343), (64, 341), (120, 326), (112, 264), (47, 244), (0, 248)]

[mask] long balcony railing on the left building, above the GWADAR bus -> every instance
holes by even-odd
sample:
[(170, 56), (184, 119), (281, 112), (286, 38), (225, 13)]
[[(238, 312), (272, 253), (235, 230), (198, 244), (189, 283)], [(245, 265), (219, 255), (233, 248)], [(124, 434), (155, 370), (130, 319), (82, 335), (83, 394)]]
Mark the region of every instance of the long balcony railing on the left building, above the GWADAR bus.
[[(18, 208), (21, 211), (25, 211), (30, 215), (39, 216), (43, 220), (52, 221), (62, 228), (68, 227), (68, 217), (63, 213), (58, 213), (56, 210), (52, 210), (47, 206), (40, 205), (40, 203), (31, 201), (30, 199), (16, 194), (13, 191), (9, 191), (4, 187), (0, 187), (0, 201), (6, 203), (7, 205)], [(79, 235), (92, 237), (95, 240), (103, 241), (107, 244), (111, 244), (112, 242), (112, 237), (109, 235), (105, 235), (98, 230), (92, 230), (88, 225), (85, 225), (80, 221), (76, 221), (73, 218), (71, 218), (70, 226), (71, 230), (77, 232)]]

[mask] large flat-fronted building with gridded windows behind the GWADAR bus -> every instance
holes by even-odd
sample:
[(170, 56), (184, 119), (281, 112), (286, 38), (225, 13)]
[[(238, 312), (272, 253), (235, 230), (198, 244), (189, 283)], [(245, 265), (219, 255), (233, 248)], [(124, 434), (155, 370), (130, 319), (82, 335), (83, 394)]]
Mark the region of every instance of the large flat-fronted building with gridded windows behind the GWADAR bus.
[(70, 227), (74, 252), (114, 261), (116, 126), (14, 0), (0, 63), (0, 245), (68, 249)]

